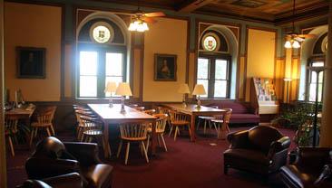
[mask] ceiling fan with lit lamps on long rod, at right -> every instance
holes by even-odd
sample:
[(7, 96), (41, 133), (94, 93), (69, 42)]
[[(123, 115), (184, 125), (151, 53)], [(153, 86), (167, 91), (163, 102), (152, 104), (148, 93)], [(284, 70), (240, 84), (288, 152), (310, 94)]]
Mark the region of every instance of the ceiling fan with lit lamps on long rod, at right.
[(292, 22), (292, 31), (285, 34), (286, 42), (285, 48), (299, 48), (299, 42), (304, 42), (308, 38), (313, 38), (315, 34), (299, 34), (295, 32), (295, 0), (293, 0), (293, 22)]

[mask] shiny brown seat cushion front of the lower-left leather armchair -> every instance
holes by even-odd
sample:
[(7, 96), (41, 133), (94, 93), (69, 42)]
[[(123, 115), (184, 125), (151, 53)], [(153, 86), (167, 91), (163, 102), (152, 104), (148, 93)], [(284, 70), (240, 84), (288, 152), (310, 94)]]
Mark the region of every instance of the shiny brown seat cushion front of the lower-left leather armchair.
[(109, 164), (95, 164), (89, 168), (83, 168), (82, 174), (88, 181), (88, 187), (112, 187), (112, 165)]

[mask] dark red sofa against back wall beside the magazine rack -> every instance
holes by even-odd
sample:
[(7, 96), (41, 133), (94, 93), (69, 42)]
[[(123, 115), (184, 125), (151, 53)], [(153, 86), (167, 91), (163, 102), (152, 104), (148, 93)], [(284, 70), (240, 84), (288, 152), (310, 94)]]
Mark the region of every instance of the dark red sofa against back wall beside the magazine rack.
[(259, 124), (259, 113), (258, 110), (245, 107), (239, 102), (225, 101), (220, 103), (212, 103), (209, 107), (218, 108), (231, 108), (231, 117), (229, 120), (230, 124)]

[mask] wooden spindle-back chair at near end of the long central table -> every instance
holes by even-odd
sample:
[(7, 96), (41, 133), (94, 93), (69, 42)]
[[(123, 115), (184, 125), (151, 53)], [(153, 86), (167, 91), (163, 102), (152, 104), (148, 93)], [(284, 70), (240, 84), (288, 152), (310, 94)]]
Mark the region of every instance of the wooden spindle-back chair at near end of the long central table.
[(142, 146), (142, 152), (145, 156), (146, 163), (149, 163), (148, 154), (144, 145), (144, 141), (147, 139), (148, 126), (144, 124), (123, 124), (120, 125), (120, 144), (118, 148), (118, 154), (116, 155), (119, 158), (122, 149), (122, 143), (126, 142), (126, 155), (124, 159), (124, 164), (128, 163), (129, 150), (131, 142), (139, 142)]

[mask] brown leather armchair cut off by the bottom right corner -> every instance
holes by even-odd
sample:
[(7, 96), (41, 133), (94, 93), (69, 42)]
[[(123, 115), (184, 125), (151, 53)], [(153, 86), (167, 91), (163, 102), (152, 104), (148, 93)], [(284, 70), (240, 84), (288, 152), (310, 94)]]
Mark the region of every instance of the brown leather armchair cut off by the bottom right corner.
[(280, 178), (291, 188), (332, 187), (332, 148), (299, 147), (293, 160), (280, 169)]

